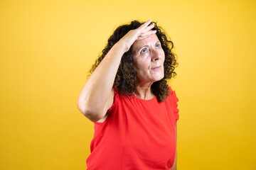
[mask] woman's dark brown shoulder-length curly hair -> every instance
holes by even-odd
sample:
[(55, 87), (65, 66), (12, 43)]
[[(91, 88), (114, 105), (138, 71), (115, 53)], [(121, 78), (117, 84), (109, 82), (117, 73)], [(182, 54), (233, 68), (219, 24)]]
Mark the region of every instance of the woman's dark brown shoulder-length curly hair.
[[(176, 62), (176, 55), (174, 52), (172, 52), (174, 43), (171, 40), (168, 40), (164, 30), (157, 26), (156, 22), (151, 23), (154, 23), (154, 28), (152, 28), (152, 30), (156, 30), (156, 36), (161, 42), (161, 47), (163, 48), (165, 55), (164, 78), (154, 82), (151, 85), (151, 92), (156, 96), (157, 101), (164, 102), (166, 97), (170, 95), (169, 86), (166, 80), (171, 79), (171, 77), (176, 77), (176, 72), (174, 72), (174, 69), (178, 66), (178, 63)], [(105, 49), (102, 50), (102, 53), (95, 61), (95, 64), (92, 65), (90, 74), (94, 72), (96, 67), (104, 59), (104, 57), (107, 55), (107, 52), (110, 51), (115, 43), (117, 43), (124, 35), (126, 35), (129, 30), (137, 29), (139, 26), (142, 26), (142, 24), (143, 23), (140, 23), (139, 21), (132, 21), (130, 24), (119, 26), (116, 30), (114, 30), (113, 35), (111, 35), (107, 41)], [(132, 93), (135, 91), (135, 88), (138, 84), (139, 81), (137, 79), (137, 72), (134, 69), (134, 61), (132, 59), (132, 47), (130, 47), (129, 50), (122, 56), (119, 68), (117, 70), (117, 75), (114, 79), (114, 89), (117, 89), (122, 93), (122, 95), (128, 97), (132, 96)]]

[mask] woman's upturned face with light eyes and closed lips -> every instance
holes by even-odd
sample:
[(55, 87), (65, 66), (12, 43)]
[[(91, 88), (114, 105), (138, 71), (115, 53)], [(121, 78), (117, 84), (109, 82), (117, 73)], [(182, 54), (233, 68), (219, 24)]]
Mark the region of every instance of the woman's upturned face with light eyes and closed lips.
[(156, 34), (136, 40), (132, 55), (139, 83), (154, 83), (164, 78), (164, 50)]

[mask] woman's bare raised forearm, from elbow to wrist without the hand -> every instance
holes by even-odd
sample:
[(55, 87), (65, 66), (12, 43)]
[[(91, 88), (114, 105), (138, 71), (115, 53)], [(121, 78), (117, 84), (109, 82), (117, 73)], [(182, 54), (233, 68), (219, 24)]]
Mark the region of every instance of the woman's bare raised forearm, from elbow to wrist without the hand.
[(117, 42), (87, 79), (78, 97), (78, 108), (82, 113), (104, 114), (102, 111), (110, 96), (123, 54), (124, 45)]

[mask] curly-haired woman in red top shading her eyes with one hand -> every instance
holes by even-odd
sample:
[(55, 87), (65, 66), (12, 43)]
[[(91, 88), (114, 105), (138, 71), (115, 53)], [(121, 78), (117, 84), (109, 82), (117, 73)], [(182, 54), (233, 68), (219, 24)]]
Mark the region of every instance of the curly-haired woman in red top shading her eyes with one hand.
[(87, 169), (176, 169), (174, 45), (150, 23), (119, 26), (80, 92), (78, 108), (95, 123)]

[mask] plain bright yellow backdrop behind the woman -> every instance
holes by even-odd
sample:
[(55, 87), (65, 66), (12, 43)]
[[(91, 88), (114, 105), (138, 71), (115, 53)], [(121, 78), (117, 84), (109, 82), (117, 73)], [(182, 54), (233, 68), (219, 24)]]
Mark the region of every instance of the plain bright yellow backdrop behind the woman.
[[(120, 24), (174, 42), (178, 170), (256, 169), (256, 1), (0, 1), (0, 169), (86, 169), (87, 72)], [(107, 160), (106, 160), (107, 161)]]

